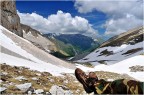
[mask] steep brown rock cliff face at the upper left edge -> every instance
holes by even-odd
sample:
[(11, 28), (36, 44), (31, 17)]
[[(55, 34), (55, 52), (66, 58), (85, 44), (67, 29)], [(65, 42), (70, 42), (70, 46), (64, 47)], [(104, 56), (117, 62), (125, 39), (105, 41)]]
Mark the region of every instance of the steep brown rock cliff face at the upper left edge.
[(15, 1), (1, 1), (0, 3), (1, 25), (22, 37), (23, 33), (20, 18), (16, 12)]

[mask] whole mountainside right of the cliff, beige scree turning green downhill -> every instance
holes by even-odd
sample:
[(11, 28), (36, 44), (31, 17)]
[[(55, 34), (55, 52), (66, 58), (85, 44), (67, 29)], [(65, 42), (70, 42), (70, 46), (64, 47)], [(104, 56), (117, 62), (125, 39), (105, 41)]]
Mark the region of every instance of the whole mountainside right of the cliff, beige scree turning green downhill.
[(72, 55), (74, 56), (75, 52), (72, 45), (65, 44), (64, 42), (54, 38), (46, 38), (39, 31), (27, 25), (21, 24), (21, 28), (23, 31), (23, 38), (45, 52), (62, 59), (66, 59)]

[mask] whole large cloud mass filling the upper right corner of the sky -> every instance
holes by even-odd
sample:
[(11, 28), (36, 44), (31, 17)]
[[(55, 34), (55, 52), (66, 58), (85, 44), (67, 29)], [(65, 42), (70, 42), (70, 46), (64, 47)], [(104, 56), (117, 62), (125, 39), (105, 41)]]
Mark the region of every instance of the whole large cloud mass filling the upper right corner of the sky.
[(143, 25), (142, 0), (76, 0), (75, 8), (80, 13), (105, 13), (109, 18), (104, 24), (105, 35), (117, 35)]

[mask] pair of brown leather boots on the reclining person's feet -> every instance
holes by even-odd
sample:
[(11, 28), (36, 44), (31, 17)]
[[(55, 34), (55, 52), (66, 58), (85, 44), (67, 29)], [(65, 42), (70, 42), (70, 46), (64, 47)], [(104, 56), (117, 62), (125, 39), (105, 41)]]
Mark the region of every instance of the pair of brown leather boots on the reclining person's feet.
[(89, 75), (86, 75), (84, 71), (77, 68), (75, 70), (75, 76), (78, 79), (78, 81), (83, 85), (87, 93), (94, 92), (94, 83), (98, 80), (95, 73), (90, 72)]

